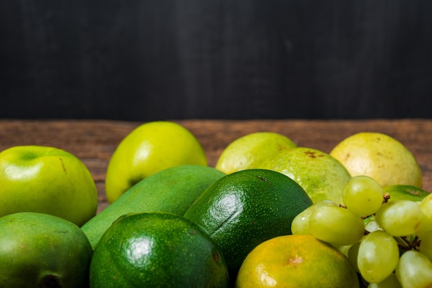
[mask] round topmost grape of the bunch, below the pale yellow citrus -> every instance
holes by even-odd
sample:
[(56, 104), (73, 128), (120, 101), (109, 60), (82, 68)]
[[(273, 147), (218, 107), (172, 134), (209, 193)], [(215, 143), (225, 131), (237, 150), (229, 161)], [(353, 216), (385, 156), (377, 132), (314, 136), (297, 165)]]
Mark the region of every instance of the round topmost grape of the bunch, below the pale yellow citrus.
[(351, 177), (342, 191), (347, 209), (360, 216), (372, 215), (380, 209), (383, 200), (381, 185), (372, 177)]

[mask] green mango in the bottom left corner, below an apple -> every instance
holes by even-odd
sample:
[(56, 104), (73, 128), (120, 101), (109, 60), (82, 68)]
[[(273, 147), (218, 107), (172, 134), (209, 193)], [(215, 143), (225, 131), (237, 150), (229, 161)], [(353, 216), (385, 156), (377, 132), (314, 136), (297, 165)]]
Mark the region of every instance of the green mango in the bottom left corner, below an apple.
[(92, 247), (76, 224), (54, 215), (0, 218), (0, 287), (88, 287)]

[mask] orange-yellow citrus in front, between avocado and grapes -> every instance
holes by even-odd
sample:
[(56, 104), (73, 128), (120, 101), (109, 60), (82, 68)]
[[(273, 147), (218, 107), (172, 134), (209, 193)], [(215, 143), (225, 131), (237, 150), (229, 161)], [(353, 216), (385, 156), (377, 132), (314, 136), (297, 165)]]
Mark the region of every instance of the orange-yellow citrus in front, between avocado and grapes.
[(262, 242), (240, 267), (236, 288), (357, 288), (357, 272), (335, 247), (313, 236), (279, 236)]

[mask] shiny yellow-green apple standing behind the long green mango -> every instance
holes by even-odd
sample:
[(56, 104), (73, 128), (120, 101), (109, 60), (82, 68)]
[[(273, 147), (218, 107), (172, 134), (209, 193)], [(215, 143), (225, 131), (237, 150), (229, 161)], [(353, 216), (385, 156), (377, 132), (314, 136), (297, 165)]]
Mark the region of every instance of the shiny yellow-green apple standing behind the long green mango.
[(121, 140), (111, 156), (106, 198), (112, 203), (144, 178), (181, 165), (207, 166), (206, 154), (195, 135), (175, 122), (141, 124)]

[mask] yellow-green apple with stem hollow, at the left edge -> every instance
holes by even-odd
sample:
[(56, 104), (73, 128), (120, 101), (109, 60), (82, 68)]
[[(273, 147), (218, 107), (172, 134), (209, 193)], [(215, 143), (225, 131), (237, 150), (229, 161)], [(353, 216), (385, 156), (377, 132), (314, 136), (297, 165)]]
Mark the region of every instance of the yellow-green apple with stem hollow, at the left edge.
[(95, 182), (79, 158), (49, 146), (0, 153), (0, 217), (17, 212), (58, 216), (81, 226), (97, 213)]

